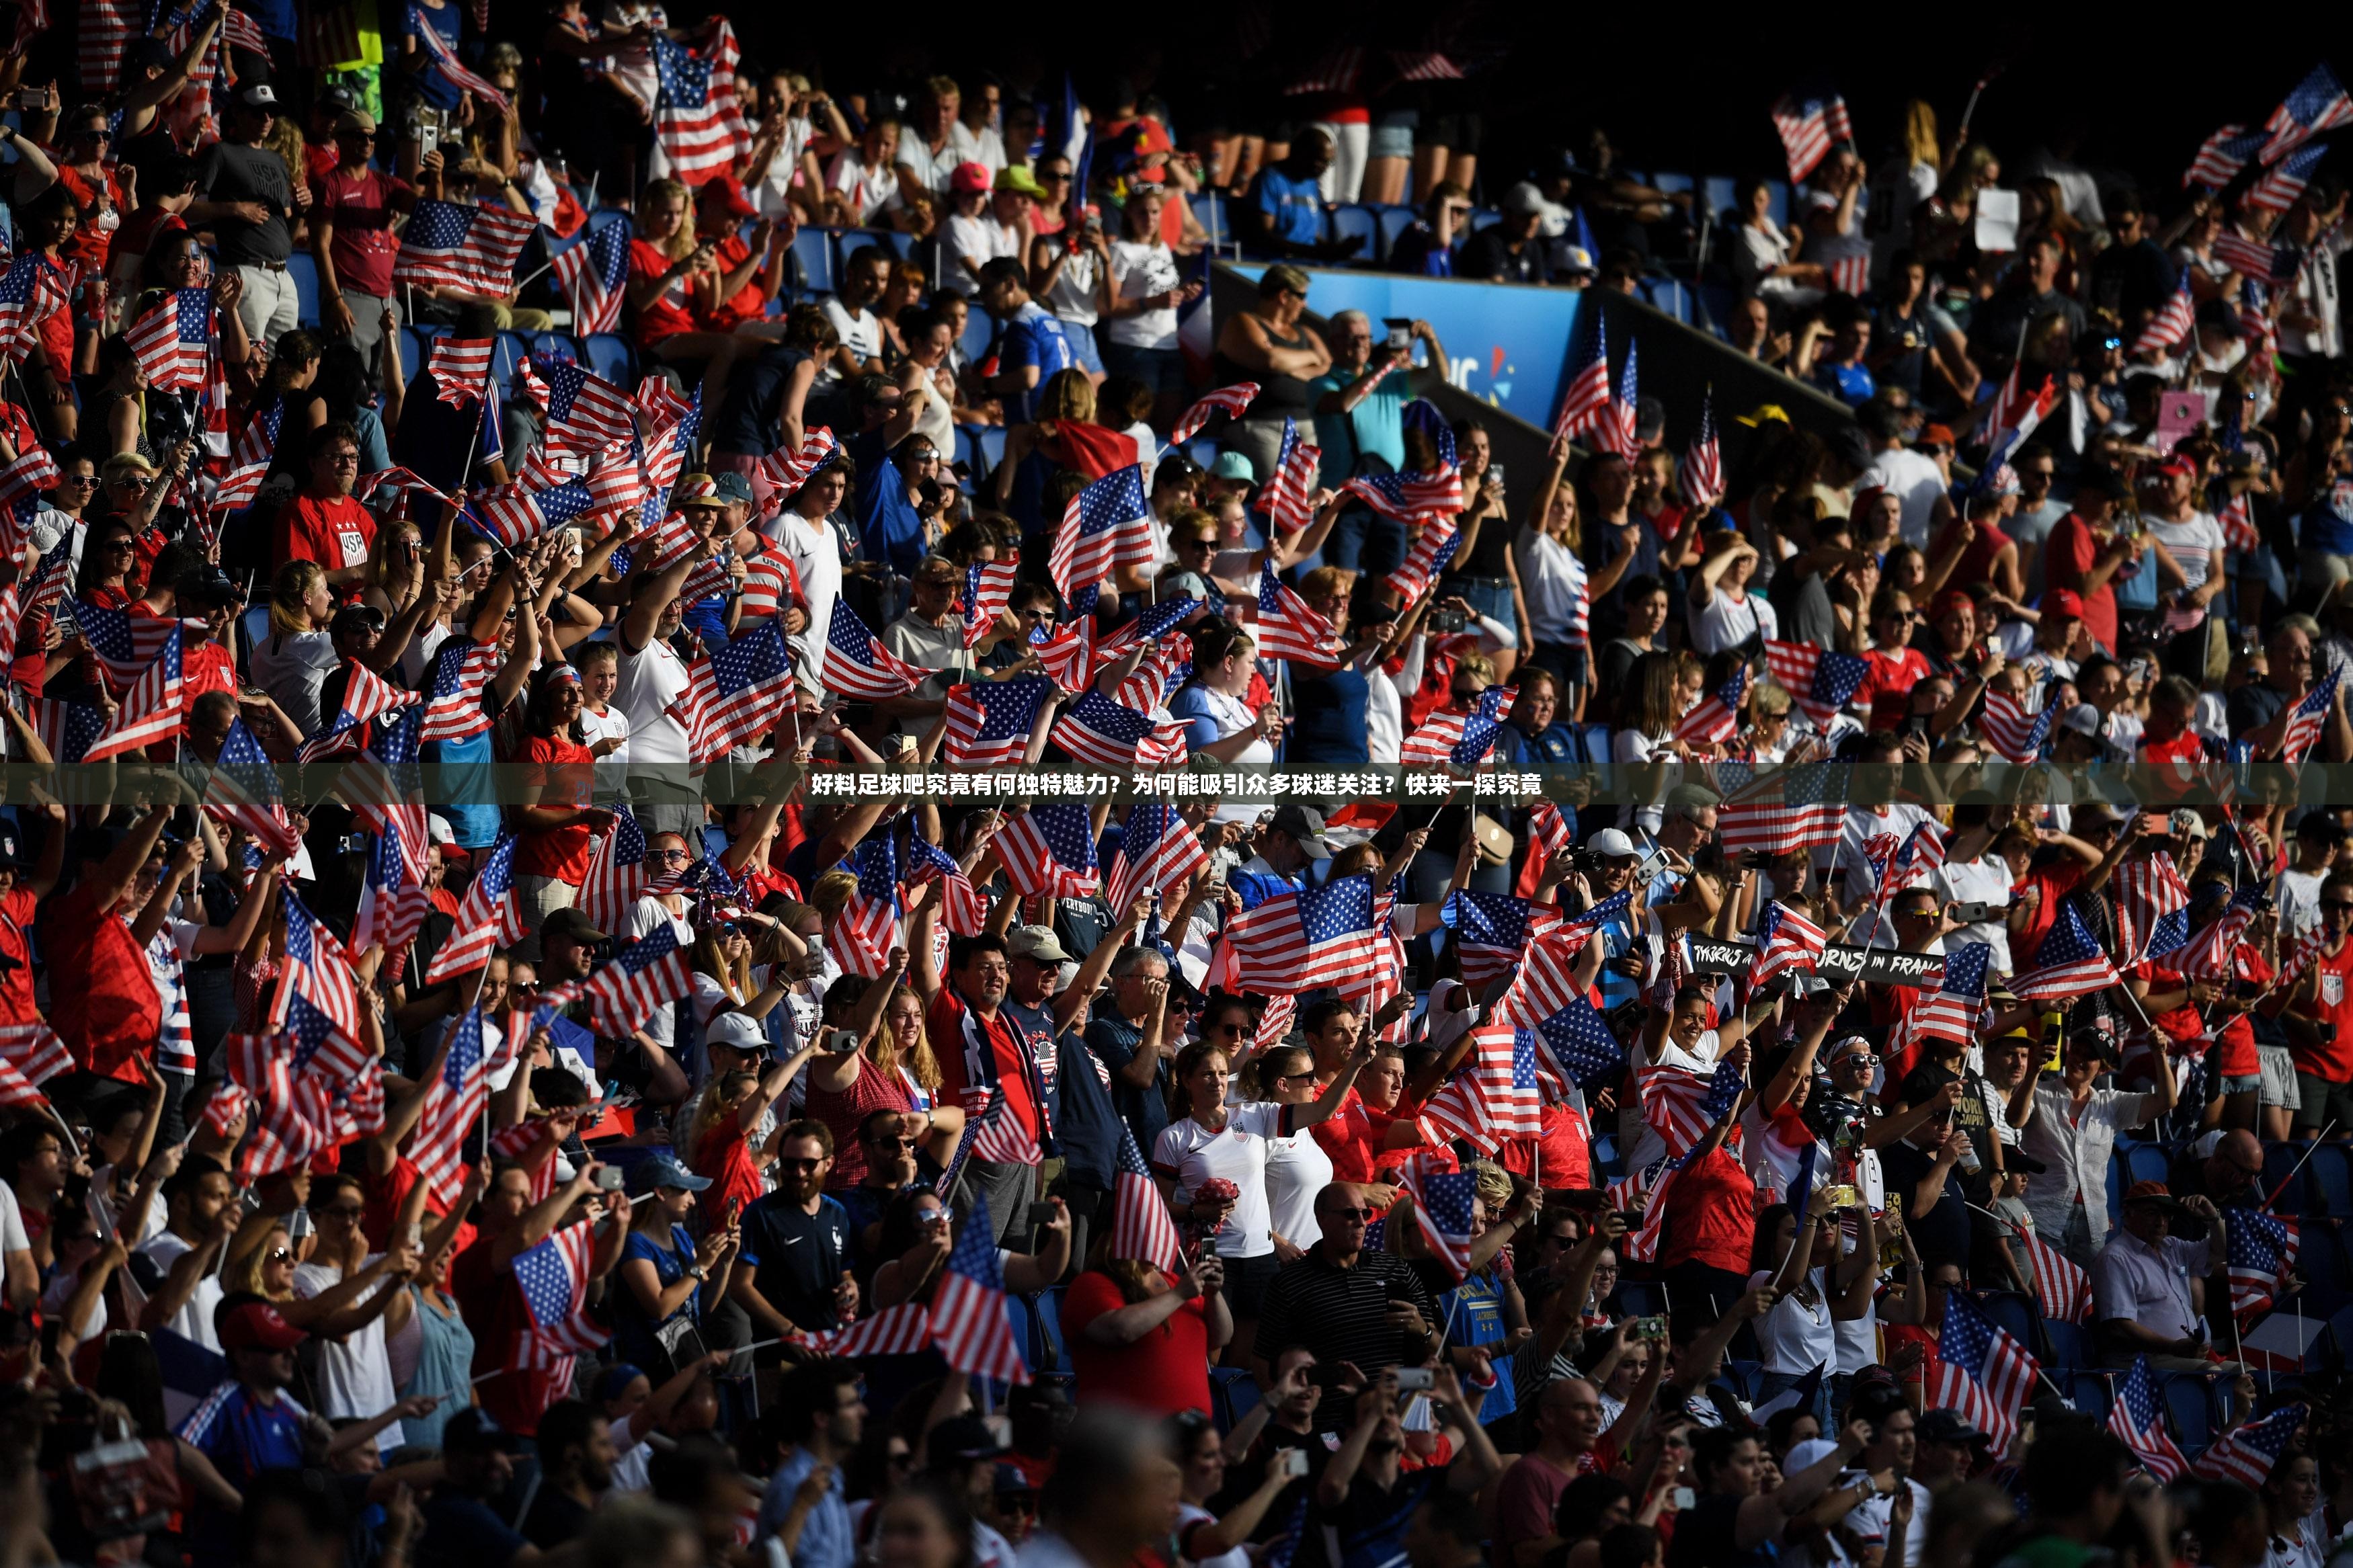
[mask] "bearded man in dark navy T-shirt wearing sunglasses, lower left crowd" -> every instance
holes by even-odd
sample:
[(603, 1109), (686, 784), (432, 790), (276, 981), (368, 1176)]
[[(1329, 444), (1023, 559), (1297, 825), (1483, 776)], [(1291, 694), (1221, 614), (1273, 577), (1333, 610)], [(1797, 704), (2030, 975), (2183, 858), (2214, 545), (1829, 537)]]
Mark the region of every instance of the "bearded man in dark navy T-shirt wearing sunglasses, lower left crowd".
[(828, 1333), (859, 1314), (849, 1276), (849, 1211), (826, 1197), (833, 1131), (788, 1121), (776, 1131), (776, 1192), (744, 1211), (744, 1255), (727, 1298), (758, 1338)]

